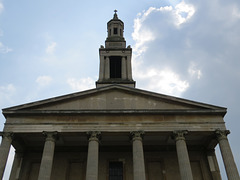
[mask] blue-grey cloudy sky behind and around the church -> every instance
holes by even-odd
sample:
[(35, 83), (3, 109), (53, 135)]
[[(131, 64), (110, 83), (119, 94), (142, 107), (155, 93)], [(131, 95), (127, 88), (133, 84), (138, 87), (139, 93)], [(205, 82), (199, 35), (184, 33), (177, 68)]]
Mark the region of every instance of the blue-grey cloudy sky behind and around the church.
[(227, 107), (240, 169), (240, 1), (0, 0), (0, 108), (94, 88), (114, 9), (137, 88)]

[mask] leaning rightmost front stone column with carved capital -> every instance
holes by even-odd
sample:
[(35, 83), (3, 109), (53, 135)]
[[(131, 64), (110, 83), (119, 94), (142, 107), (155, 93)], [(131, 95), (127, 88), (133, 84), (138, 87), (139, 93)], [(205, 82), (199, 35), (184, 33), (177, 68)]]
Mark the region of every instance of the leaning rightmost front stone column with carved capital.
[(216, 130), (215, 134), (219, 142), (224, 166), (227, 172), (228, 180), (240, 180), (237, 166), (235, 164), (233, 154), (227, 139), (227, 135), (230, 133), (228, 130)]

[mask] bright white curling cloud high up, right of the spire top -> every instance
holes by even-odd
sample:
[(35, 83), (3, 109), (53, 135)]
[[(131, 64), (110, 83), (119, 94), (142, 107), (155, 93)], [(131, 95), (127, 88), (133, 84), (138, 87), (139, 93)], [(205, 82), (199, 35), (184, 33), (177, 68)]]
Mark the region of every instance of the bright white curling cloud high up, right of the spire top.
[[(176, 6), (164, 6), (160, 8), (150, 7), (143, 13), (138, 13), (137, 18), (134, 19), (134, 31), (132, 38), (136, 42), (133, 46), (136, 56), (141, 56), (148, 49), (148, 44), (154, 41), (157, 36), (161, 36), (161, 31), (156, 30), (158, 22), (152, 26), (148, 25), (149, 16), (153, 13), (165, 15), (165, 21), (180, 27), (181, 24), (186, 23), (195, 13), (195, 8), (191, 4), (186, 4), (184, 1), (176, 4)], [(162, 22), (164, 23), (164, 22)], [(155, 31), (155, 30), (156, 31)]]

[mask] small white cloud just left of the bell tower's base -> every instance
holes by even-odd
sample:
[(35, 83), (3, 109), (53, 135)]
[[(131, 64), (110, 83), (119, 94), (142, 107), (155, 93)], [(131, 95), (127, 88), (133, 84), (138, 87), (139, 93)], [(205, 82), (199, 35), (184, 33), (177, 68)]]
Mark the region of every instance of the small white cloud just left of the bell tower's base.
[(95, 87), (95, 81), (90, 77), (82, 79), (69, 78), (67, 83), (74, 91), (82, 91)]

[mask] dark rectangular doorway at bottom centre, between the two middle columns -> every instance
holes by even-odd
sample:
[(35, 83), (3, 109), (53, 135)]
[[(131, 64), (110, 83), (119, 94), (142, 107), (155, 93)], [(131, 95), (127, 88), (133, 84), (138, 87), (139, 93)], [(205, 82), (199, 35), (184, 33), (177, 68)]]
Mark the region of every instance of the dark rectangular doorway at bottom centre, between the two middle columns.
[(109, 162), (109, 180), (123, 180), (123, 163)]

